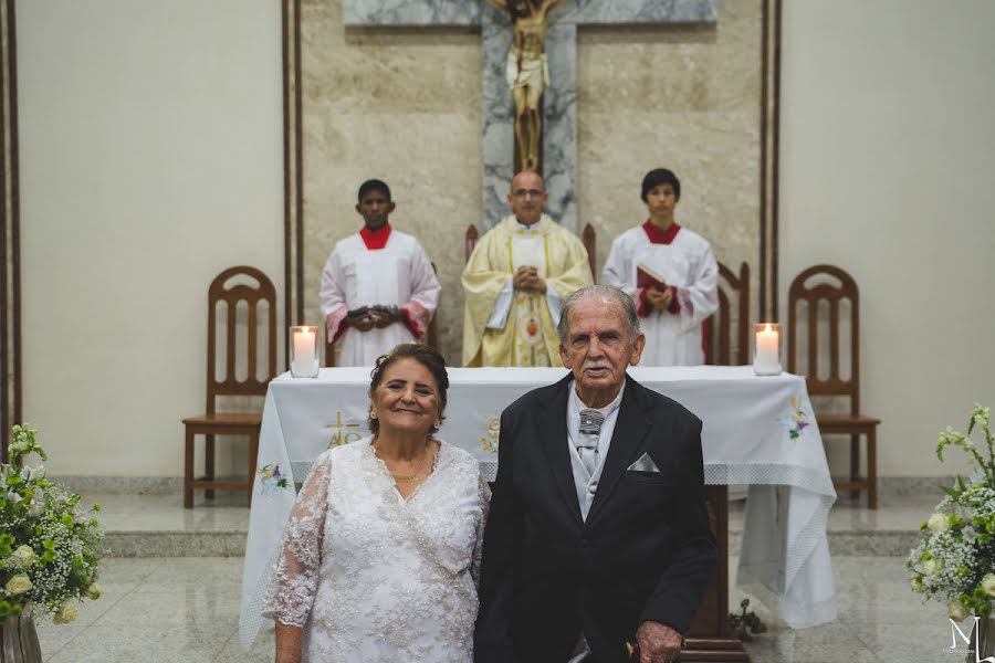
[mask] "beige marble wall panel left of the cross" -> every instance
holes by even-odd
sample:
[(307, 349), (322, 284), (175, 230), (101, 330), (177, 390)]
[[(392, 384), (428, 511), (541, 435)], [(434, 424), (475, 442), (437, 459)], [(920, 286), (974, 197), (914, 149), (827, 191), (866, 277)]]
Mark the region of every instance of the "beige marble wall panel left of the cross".
[(390, 185), (391, 223), (416, 235), (439, 271), (441, 349), (459, 360), (463, 232), (480, 224), (480, 33), (352, 29), (338, 0), (302, 10), (304, 304), (321, 320), (321, 272), (335, 242), (363, 225), (356, 191)]

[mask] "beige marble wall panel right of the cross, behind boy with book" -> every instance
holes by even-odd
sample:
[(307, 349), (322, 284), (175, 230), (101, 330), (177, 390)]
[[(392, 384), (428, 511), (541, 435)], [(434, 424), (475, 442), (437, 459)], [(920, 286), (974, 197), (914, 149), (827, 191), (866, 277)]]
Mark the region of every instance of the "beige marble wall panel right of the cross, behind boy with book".
[(597, 231), (599, 269), (646, 220), (642, 176), (666, 167), (681, 180), (678, 222), (734, 270), (750, 263), (756, 302), (761, 9), (724, 2), (712, 27), (580, 31), (578, 224)]

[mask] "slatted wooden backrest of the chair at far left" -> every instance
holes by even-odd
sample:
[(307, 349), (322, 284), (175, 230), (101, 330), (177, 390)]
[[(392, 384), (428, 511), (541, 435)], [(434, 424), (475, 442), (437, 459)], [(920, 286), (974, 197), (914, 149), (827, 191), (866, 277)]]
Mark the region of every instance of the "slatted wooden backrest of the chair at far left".
[[(229, 282), (232, 282), (229, 284)], [(255, 282), (247, 284), (245, 282)], [(245, 345), (237, 344), (239, 303), (247, 305)], [(259, 320), (260, 304), (265, 303), (265, 352), (262, 358), (266, 372), (259, 377), (260, 344)], [(224, 335), (218, 335), (219, 307), (223, 306)], [(218, 379), (217, 359), (219, 345), (223, 346), (221, 356), (223, 378)], [(244, 380), (235, 377), (239, 359), (245, 359), (247, 375)], [(240, 265), (229, 267), (218, 274), (208, 290), (208, 370), (207, 370), (207, 412), (214, 413), (214, 400), (218, 396), (265, 396), (266, 387), (276, 376), (276, 288), (273, 283), (255, 267)]]

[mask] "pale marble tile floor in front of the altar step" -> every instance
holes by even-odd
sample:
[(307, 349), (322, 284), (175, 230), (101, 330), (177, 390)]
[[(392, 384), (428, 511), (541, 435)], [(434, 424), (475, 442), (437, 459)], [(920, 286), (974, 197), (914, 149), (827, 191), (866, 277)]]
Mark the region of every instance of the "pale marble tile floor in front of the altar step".
[[(836, 557), (839, 619), (792, 631), (753, 608), (769, 631), (747, 643), (754, 663), (960, 663), (945, 609), (909, 590), (903, 558)], [(730, 558), (735, 573), (735, 559)], [(46, 663), (263, 663), (272, 633), (244, 652), (238, 641), (239, 557), (111, 558), (104, 593), (67, 625), (39, 624)], [(739, 590), (731, 600), (743, 598)], [(961, 645), (963, 646), (963, 645)]]

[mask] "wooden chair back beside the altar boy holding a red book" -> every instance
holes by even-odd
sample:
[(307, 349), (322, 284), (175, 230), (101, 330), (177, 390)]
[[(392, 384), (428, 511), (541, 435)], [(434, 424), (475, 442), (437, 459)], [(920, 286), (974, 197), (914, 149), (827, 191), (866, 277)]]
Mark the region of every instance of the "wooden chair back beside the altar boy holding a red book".
[(750, 265), (745, 262), (740, 263), (739, 276), (719, 263), (719, 311), (705, 320), (704, 339), (705, 364), (750, 364)]

